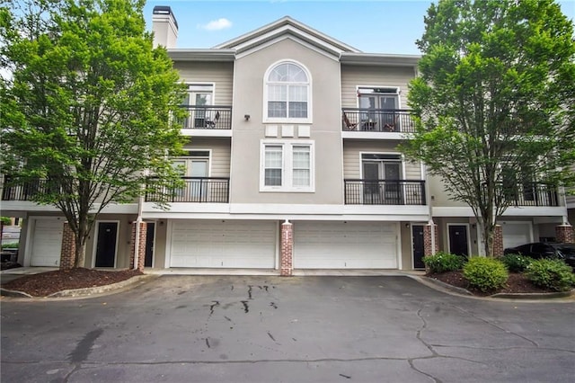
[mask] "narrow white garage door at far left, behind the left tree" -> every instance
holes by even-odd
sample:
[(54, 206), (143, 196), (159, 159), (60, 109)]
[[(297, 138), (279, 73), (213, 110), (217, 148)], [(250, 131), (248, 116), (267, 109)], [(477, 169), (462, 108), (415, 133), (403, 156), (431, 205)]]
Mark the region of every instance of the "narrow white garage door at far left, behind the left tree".
[(32, 218), (31, 266), (59, 266), (63, 218)]

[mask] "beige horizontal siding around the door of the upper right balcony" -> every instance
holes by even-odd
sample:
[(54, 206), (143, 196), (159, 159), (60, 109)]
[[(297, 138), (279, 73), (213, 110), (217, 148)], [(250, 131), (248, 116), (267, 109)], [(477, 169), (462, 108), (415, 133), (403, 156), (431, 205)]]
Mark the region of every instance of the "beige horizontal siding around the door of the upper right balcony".
[(407, 85), (415, 76), (412, 67), (368, 67), (341, 66), (341, 107), (357, 108), (357, 87), (363, 86), (399, 86), (400, 105), (407, 109)]

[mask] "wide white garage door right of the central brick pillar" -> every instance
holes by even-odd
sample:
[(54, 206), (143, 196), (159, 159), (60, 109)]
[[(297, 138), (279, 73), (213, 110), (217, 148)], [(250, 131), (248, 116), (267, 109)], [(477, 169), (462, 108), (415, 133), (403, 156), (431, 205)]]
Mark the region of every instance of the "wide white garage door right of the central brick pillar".
[(294, 268), (396, 269), (397, 226), (385, 222), (296, 222)]

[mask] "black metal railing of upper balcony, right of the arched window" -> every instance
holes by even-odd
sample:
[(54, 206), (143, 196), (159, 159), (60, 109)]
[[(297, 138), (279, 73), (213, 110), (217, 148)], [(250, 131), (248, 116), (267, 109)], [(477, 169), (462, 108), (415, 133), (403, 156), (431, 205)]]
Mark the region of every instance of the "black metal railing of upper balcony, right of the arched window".
[(409, 133), (415, 131), (412, 113), (406, 109), (345, 108), (341, 110), (343, 131)]

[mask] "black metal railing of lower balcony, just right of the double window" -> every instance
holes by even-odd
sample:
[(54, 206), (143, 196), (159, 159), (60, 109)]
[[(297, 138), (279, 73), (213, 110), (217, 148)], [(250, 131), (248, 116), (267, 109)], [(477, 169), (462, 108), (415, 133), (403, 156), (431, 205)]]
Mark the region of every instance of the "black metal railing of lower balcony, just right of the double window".
[(346, 205), (425, 205), (425, 181), (343, 180)]

